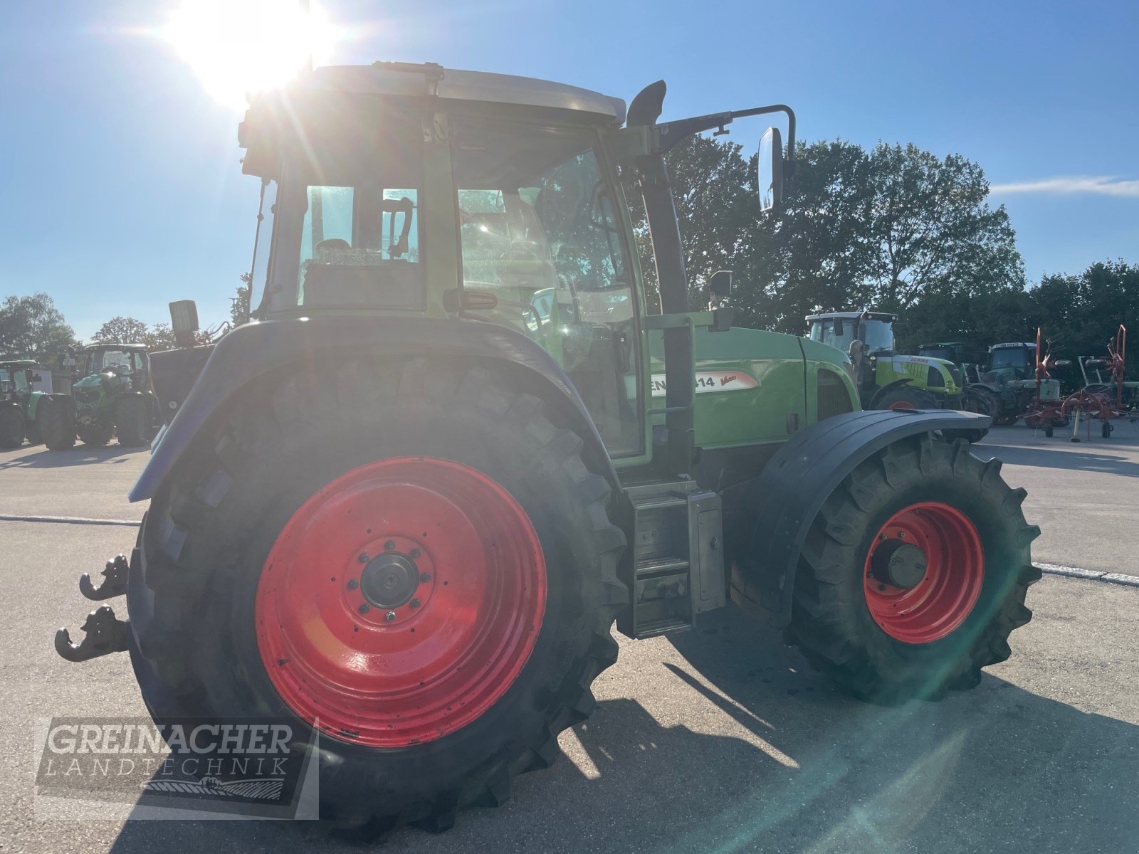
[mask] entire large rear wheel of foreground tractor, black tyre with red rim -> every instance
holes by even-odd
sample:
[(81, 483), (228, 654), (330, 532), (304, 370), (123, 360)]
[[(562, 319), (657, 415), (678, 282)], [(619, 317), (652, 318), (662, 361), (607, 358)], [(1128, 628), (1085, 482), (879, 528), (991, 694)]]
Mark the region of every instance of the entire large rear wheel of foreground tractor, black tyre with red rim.
[[(607, 515), (608, 483), (538, 399), (448, 363), (357, 362), (311, 376), (329, 371), (336, 381), (282, 379), (251, 394), (155, 496), (139, 681), (156, 718), (286, 715), (297, 741), (322, 705), (322, 818), (369, 832), (445, 829), (466, 804), (505, 802), (511, 777), (552, 762), (558, 732), (592, 711), (590, 683), (616, 660), (624, 536)], [(498, 522), (495, 506), (507, 508)], [(514, 522), (511, 506), (523, 515)], [(541, 561), (525, 557), (525, 531)], [(366, 578), (377, 560), (392, 585)], [(544, 585), (544, 605), (519, 594), (513, 613), (487, 616), (493, 584), (474, 582), (487, 561), (514, 567), (500, 578), (507, 588)], [(384, 598), (403, 581), (408, 591)], [(506, 647), (518, 638), (507, 624), (521, 627), (505, 666), (478, 670), (489, 659), (476, 635), (439, 652), (448, 631), (470, 625), (457, 596)], [(341, 672), (336, 655), (305, 646), (316, 623), (330, 643), (387, 664)], [(458, 674), (472, 662), (477, 675)], [(417, 689), (417, 667), (459, 685), (453, 701)], [(416, 701), (393, 717), (390, 697), (409, 691)]]

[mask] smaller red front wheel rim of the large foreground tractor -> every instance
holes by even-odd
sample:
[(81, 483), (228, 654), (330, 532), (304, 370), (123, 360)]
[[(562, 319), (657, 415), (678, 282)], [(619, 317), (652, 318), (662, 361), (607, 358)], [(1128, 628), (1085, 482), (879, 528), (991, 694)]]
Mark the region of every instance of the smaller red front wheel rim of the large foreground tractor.
[[(886, 566), (903, 544), (901, 553), (924, 563), (925, 572), (920, 580), (893, 583), (899, 580)], [(910, 547), (920, 550), (920, 558)], [(949, 504), (927, 501), (900, 510), (879, 528), (866, 557), (862, 588), (870, 616), (886, 634), (929, 643), (965, 622), (984, 575), (984, 549), (974, 524)]]

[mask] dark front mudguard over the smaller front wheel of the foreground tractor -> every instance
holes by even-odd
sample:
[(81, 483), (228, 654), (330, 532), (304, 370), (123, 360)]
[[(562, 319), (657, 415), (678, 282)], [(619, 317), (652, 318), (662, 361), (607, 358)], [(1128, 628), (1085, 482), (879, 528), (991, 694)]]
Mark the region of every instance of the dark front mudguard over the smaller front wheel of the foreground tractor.
[[(854, 468), (906, 436), (933, 430), (976, 430), (988, 416), (952, 410), (865, 410), (819, 421), (780, 447), (760, 474), (724, 494), (746, 503), (751, 542), (732, 563), (731, 598), (777, 627), (790, 622), (800, 550), (811, 523)], [(746, 542), (746, 540), (745, 540)]]

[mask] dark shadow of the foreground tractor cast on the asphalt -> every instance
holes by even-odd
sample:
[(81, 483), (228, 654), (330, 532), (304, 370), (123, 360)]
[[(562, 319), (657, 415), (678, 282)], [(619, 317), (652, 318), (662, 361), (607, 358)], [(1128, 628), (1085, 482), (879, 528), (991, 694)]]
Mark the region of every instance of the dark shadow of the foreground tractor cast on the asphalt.
[[(601, 697), (640, 693), (652, 711), (601, 699), (506, 806), (466, 811), (440, 836), (401, 829), (380, 849), (1134, 849), (1139, 728), (989, 675), (937, 704), (865, 705), (776, 633), (712, 616), (647, 655), (625, 644), (636, 662), (603, 676)], [(351, 849), (311, 826), (134, 821), (113, 851), (302, 846)]]

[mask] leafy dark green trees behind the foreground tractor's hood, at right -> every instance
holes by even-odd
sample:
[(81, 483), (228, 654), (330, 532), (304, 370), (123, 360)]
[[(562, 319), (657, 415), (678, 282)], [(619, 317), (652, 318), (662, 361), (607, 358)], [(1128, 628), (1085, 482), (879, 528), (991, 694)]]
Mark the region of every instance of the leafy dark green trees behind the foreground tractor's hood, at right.
[[(1029, 284), (1005, 206), (990, 203), (983, 170), (960, 155), (800, 145), (785, 204), (767, 215), (755, 156), (740, 146), (698, 137), (669, 158), (693, 306), (712, 273), (732, 270), (739, 326), (802, 335), (808, 314), (877, 309), (900, 315), (909, 352), (948, 340), (983, 352), (1033, 340), (1041, 327), (1065, 358), (1104, 355), (1120, 323), (1139, 330), (1139, 268), (1096, 261)], [(632, 205), (652, 293), (647, 229)]]

